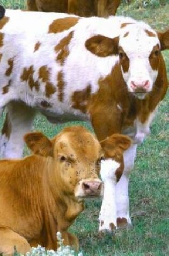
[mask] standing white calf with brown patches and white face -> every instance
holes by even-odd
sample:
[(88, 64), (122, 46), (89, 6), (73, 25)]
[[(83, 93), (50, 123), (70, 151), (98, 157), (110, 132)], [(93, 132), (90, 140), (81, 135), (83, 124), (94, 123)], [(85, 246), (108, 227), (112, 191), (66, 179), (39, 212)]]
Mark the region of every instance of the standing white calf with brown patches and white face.
[[(23, 135), (38, 111), (55, 123), (90, 120), (99, 141), (114, 133), (129, 135), (133, 145), (124, 153), (123, 175), (115, 191), (109, 186), (117, 202), (108, 206), (113, 199), (105, 194), (99, 229), (130, 224), (129, 172), (167, 91), (161, 51), (169, 47), (169, 31), (156, 32), (122, 16), (20, 10), (6, 10), (0, 27), (0, 109), (7, 110), (1, 154), (21, 157)], [(112, 166), (107, 160), (101, 175), (113, 188)]]

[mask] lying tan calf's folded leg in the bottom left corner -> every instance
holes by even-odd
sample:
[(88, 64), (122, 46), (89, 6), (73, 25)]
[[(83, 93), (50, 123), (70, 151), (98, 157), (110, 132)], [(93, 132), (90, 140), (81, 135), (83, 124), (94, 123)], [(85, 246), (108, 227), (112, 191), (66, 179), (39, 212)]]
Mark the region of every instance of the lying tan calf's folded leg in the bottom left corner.
[(16, 247), (17, 252), (22, 254), (31, 250), (30, 244), (24, 237), (8, 227), (0, 226), (0, 254), (13, 255), (14, 247)]

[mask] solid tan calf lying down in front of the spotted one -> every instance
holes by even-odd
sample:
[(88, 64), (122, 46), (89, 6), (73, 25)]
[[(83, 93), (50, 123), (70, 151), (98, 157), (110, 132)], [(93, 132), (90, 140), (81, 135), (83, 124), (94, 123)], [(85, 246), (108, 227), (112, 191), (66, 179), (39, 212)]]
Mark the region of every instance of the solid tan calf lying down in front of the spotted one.
[[(24, 137), (33, 155), (22, 160), (0, 161), (0, 253), (21, 253), (38, 244), (57, 248), (60, 231), (65, 245), (78, 249), (78, 239), (67, 232), (84, 199), (99, 197), (98, 175), (104, 157), (114, 157), (117, 182), (122, 156), (131, 140), (114, 134), (100, 143), (82, 126), (65, 128), (49, 140), (40, 132)], [(104, 160), (102, 160), (104, 162)]]

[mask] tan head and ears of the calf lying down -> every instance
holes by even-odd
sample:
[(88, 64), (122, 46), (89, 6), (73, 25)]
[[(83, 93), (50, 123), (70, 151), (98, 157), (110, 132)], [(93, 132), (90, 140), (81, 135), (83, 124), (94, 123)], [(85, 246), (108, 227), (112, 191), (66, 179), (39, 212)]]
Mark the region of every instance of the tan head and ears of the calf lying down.
[(50, 175), (55, 186), (78, 201), (102, 195), (98, 177), (101, 161), (121, 155), (131, 144), (127, 136), (120, 134), (99, 143), (81, 126), (65, 128), (52, 140), (40, 132), (26, 134), (24, 139), (33, 153), (52, 161), (54, 174), (51, 170)]

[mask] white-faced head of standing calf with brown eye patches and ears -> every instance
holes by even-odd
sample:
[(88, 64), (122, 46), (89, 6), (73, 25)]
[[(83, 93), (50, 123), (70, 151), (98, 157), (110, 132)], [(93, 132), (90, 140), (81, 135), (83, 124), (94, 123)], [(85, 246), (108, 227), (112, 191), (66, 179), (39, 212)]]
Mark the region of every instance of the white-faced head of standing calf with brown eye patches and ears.
[(133, 20), (133, 23), (121, 25), (119, 37), (93, 36), (85, 46), (100, 57), (118, 54), (128, 92), (144, 99), (152, 91), (162, 65), (161, 51), (169, 49), (169, 30), (159, 33), (145, 23)]

